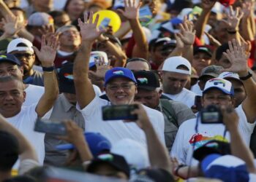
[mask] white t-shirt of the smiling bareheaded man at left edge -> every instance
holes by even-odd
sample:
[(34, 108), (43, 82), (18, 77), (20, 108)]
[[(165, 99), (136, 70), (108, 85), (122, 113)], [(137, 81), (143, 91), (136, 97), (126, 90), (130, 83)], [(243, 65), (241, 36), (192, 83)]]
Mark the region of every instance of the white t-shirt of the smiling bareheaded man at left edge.
[[(31, 145), (34, 146), (34, 149), (37, 152), (39, 164), (42, 165), (45, 159), (45, 133), (34, 131), (34, 124), (37, 120), (36, 107), (37, 104), (22, 107), (21, 111), (16, 116), (7, 118), (7, 121), (17, 128), (31, 143)], [(50, 118), (51, 111), (52, 109), (48, 111), (43, 118)], [(18, 169), (17, 162), (13, 168)]]

